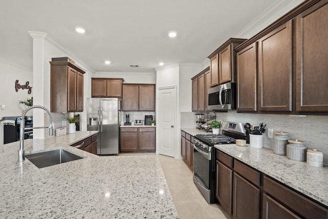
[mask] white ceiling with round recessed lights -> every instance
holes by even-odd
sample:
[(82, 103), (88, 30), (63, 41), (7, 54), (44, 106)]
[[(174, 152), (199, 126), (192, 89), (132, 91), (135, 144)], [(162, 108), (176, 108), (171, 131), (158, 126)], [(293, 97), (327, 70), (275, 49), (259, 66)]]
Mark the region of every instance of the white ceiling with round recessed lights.
[[(153, 72), (159, 62), (202, 63), (274, 4), (272, 0), (2, 1), (0, 58), (32, 69), (28, 31), (39, 31), (94, 72)], [(76, 27), (86, 32), (79, 34)], [(169, 38), (169, 31), (177, 36)]]

